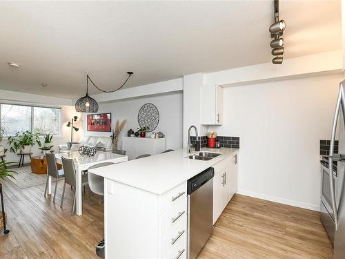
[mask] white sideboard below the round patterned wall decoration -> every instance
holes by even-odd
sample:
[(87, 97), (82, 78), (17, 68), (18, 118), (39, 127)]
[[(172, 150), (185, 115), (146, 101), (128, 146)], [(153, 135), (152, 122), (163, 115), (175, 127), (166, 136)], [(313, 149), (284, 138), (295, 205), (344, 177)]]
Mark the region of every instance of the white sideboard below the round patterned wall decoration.
[(166, 139), (122, 137), (122, 149), (127, 152), (128, 160), (144, 154), (157, 155), (166, 150)]

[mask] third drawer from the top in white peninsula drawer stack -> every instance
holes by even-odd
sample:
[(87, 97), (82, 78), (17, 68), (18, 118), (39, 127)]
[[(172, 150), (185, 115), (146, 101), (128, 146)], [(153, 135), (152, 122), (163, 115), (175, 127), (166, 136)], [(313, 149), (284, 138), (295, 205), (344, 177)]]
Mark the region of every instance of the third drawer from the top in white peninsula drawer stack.
[[(159, 254), (164, 256), (171, 249), (177, 247), (179, 241), (186, 240), (187, 236), (187, 216), (181, 217), (181, 221), (175, 227), (159, 239)], [(185, 242), (187, 244), (187, 242)]]

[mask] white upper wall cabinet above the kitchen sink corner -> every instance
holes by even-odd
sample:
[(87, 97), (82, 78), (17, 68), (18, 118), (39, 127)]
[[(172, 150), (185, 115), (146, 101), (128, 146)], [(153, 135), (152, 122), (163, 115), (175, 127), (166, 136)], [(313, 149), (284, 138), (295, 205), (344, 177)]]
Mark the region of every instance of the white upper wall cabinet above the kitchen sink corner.
[(221, 125), (223, 123), (223, 88), (201, 86), (201, 124)]

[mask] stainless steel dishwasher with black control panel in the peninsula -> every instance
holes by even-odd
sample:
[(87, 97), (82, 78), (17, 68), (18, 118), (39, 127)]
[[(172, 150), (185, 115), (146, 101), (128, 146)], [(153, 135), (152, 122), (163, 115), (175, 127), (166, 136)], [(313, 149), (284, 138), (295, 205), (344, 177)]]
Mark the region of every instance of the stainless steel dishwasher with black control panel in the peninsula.
[(211, 167), (188, 180), (188, 255), (197, 255), (213, 231), (213, 176)]

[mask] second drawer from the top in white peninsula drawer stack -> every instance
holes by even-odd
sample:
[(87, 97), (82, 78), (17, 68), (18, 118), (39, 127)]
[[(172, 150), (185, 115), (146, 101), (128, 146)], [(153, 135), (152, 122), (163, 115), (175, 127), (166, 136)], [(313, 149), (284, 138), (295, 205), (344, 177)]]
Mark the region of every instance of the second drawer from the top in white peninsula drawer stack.
[(159, 216), (159, 236), (163, 236), (168, 233), (172, 227), (175, 227), (181, 220), (184, 219), (184, 215), (187, 214), (187, 198), (179, 200), (172, 209)]

